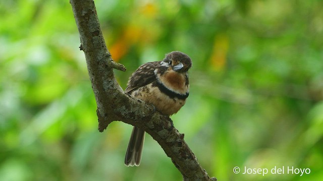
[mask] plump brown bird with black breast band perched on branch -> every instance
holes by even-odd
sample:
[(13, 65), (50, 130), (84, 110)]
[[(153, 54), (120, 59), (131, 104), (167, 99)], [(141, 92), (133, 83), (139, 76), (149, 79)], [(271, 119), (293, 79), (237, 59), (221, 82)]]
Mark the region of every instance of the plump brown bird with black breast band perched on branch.
[[(129, 78), (125, 92), (171, 116), (186, 102), (190, 87), (187, 71), (191, 66), (188, 55), (173, 51), (162, 61), (141, 65)], [(144, 139), (144, 130), (133, 127), (125, 158), (127, 166), (139, 166)]]

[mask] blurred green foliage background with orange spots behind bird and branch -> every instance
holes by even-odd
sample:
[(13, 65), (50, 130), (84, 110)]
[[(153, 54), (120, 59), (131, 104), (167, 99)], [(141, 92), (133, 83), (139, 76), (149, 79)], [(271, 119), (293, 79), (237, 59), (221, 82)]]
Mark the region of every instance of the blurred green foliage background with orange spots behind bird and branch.
[[(95, 4), (113, 59), (127, 67), (115, 70), (123, 88), (167, 52), (192, 58), (190, 96), (172, 119), (210, 176), (323, 179), (323, 1)], [(182, 180), (149, 135), (141, 165), (126, 167), (132, 126), (97, 131), (69, 1), (2, 0), (0, 17), (0, 180)]]

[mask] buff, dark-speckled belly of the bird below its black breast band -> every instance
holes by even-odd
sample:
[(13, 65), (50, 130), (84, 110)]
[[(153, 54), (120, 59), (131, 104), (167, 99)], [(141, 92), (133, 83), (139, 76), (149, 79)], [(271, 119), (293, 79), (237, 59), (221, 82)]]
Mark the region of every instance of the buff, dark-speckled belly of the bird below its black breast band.
[(186, 102), (186, 100), (170, 98), (168, 95), (160, 92), (157, 86), (152, 86), (152, 83), (139, 87), (131, 95), (148, 104), (152, 104), (157, 111), (164, 115), (177, 113)]

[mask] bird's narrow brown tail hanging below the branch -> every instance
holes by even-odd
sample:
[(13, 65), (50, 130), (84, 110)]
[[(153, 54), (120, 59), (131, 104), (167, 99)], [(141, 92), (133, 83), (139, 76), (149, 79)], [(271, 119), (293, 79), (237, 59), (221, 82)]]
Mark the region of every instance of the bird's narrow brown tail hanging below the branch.
[(125, 165), (139, 166), (144, 141), (145, 131), (140, 128), (133, 127), (126, 152)]

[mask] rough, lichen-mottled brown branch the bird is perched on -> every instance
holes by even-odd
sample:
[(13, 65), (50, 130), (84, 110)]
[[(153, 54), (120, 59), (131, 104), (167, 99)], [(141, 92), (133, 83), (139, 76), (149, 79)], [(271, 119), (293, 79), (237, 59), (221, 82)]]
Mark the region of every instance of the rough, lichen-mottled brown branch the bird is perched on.
[(100, 30), (92, 0), (70, 1), (80, 33), (88, 73), (97, 104), (99, 131), (115, 120), (145, 130), (164, 149), (184, 180), (216, 180), (210, 178), (184, 141), (184, 134), (171, 126), (169, 117), (154, 111), (143, 101), (125, 94), (118, 84), (113, 69), (125, 71), (122, 64), (112, 60)]

